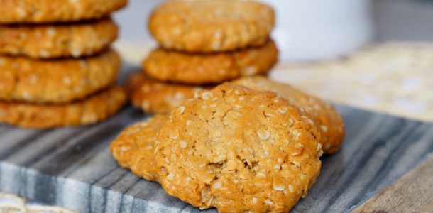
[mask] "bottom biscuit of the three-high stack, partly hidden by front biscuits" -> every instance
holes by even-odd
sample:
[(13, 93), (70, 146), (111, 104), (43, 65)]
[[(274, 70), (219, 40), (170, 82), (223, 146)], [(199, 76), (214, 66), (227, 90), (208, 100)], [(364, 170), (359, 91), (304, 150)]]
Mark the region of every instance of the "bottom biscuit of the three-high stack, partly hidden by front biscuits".
[(202, 87), (170, 84), (152, 80), (143, 72), (133, 73), (126, 83), (133, 106), (149, 113), (169, 114), (187, 99), (193, 98)]

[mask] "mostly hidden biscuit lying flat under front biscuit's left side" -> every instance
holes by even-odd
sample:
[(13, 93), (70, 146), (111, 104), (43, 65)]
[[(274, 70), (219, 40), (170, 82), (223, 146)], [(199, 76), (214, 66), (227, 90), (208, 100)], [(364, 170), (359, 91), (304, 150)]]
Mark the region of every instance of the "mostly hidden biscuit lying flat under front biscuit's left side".
[(110, 150), (119, 164), (150, 181), (159, 181), (154, 165), (156, 135), (168, 115), (156, 114), (147, 121), (128, 126), (111, 143)]

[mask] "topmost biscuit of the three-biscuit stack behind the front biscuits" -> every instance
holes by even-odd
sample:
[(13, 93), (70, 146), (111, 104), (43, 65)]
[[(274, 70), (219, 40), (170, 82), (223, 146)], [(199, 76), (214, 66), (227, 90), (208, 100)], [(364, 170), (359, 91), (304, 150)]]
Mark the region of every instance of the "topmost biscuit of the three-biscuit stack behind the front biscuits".
[(275, 14), (256, 1), (168, 1), (150, 16), (150, 33), (166, 49), (211, 53), (263, 45)]

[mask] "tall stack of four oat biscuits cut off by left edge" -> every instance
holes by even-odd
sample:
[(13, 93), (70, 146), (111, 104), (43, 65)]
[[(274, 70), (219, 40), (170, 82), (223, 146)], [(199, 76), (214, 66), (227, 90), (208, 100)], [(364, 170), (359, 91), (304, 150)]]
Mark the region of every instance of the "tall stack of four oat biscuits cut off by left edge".
[(126, 0), (0, 0), (0, 122), (94, 124), (126, 102), (110, 13)]

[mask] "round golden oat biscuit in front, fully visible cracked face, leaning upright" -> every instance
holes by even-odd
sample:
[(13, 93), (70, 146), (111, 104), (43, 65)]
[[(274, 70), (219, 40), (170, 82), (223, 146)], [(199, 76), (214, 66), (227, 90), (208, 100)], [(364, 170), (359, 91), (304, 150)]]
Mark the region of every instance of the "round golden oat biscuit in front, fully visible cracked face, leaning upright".
[(204, 90), (160, 129), (156, 165), (168, 194), (219, 212), (288, 212), (314, 184), (316, 126), (273, 92)]

